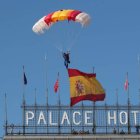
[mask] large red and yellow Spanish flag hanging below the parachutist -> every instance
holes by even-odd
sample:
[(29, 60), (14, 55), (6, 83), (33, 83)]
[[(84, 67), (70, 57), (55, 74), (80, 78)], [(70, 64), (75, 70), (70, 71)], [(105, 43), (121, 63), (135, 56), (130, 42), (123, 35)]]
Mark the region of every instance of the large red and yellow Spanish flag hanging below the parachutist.
[(71, 106), (82, 100), (103, 101), (105, 91), (96, 79), (96, 74), (68, 69)]

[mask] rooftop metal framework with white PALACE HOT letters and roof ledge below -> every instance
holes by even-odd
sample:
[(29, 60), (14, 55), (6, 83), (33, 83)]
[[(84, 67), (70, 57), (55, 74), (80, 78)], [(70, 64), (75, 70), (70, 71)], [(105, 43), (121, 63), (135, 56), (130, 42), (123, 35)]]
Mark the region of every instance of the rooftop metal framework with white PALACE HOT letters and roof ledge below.
[(5, 140), (140, 139), (139, 106), (22, 105), (21, 125), (5, 124)]

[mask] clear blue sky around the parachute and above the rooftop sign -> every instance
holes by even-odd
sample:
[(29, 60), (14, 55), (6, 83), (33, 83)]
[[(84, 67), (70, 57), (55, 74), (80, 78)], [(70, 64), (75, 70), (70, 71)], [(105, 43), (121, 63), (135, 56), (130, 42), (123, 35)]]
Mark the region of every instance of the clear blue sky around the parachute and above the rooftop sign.
[[(94, 72), (106, 91), (104, 102), (126, 104), (124, 82), (128, 72), (131, 104), (140, 102), (139, 0), (0, 0), (0, 136), (4, 135), (4, 94), (8, 123), (22, 123), (23, 92), (26, 103), (57, 104), (53, 86), (59, 72), (61, 103), (69, 105), (69, 78), (61, 51), (70, 50), (70, 68)], [(89, 26), (59, 22), (37, 35), (32, 26), (44, 15), (60, 9), (77, 9), (91, 17)], [(45, 61), (46, 56), (46, 61)], [(23, 67), (28, 84), (23, 87)], [(91, 102), (88, 102), (91, 104)]]

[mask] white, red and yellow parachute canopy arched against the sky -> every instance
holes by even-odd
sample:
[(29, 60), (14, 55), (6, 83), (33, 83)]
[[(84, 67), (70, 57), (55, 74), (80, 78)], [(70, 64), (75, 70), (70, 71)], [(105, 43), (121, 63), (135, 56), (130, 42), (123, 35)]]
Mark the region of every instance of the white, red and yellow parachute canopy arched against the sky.
[(45, 29), (49, 29), (54, 23), (63, 20), (72, 20), (81, 23), (82, 26), (86, 26), (90, 22), (90, 16), (79, 10), (59, 10), (42, 17), (35, 23), (32, 30), (35, 33), (44, 33)]

